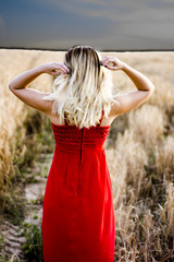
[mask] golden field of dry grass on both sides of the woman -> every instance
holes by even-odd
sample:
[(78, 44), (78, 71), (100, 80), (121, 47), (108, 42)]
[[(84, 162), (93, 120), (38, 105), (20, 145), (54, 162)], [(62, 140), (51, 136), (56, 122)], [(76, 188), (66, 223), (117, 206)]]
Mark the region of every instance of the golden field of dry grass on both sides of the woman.
[[(30, 68), (62, 62), (63, 55), (61, 51), (0, 50), (1, 215), (9, 212), (8, 205), (20, 194), (13, 189), (30, 150), (26, 134), (30, 127), (30, 133), (35, 133), (35, 124), (44, 128), (47, 121), (44, 114), (15, 97), (8, 84)], [(174, 261), (174, 52), (101, 55), (116, 56), (145, 73), (156, 86), (147, 102), (113, 121), (105, 143), (115, 211), (115, 259)], [(136, 88), (125, 73), (115, 71), (112, 75), (115, 92)], [(51, 75), (42, 74), (29, 86), (51, 92), (52, 81)], [(39, 132), (39, 127), (35, 131)], [(37, 136), (33, 135), (32, 140), (34, 146)], [(32, 152), (37, 150), (36, 146)], [(33, 158), (35, 154), (27, 163), (32, 165)]]

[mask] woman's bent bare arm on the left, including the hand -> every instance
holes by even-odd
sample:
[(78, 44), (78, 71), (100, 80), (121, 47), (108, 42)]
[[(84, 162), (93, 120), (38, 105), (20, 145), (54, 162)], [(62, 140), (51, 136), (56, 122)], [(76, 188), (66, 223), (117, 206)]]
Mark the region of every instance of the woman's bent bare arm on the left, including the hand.
[(9, 83), (9, 88), (26, 105), (45, 114), (50, 114), (52, 102), (42, 99), (42, 97), (49, 95), (49, 93), (27, 88), (27, 85), (42, 73), (57, 75), (60, 74), (60, 72), (69, 73), (69, 68), (65, 64), (58, 62), (44, 63), (17, 75)]

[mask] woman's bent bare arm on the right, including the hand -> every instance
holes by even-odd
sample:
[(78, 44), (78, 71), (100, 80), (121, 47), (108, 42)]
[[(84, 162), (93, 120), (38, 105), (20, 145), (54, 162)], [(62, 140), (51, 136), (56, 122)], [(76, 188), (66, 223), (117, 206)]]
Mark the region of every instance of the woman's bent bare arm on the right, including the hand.
[[(112, 63), (112, 66), (110, 66)], [(122, 62), (115, 57), (104, 57), (102, 59), (102, 64), (110, 70), (122, 70), (127, 76), (133, 81), (138, 91), (130, 91), (124, 94), (116, 95), (114, 97), (119, 104), (112, 106), (112, 115), (119, 116), (121, 114), (127, 112), (139, 105), (141, 105), (148, 97), (153, 93), (154, 85), (150, 80), (145, 76), (139, 71), (133, 69), (125, 62)]]

